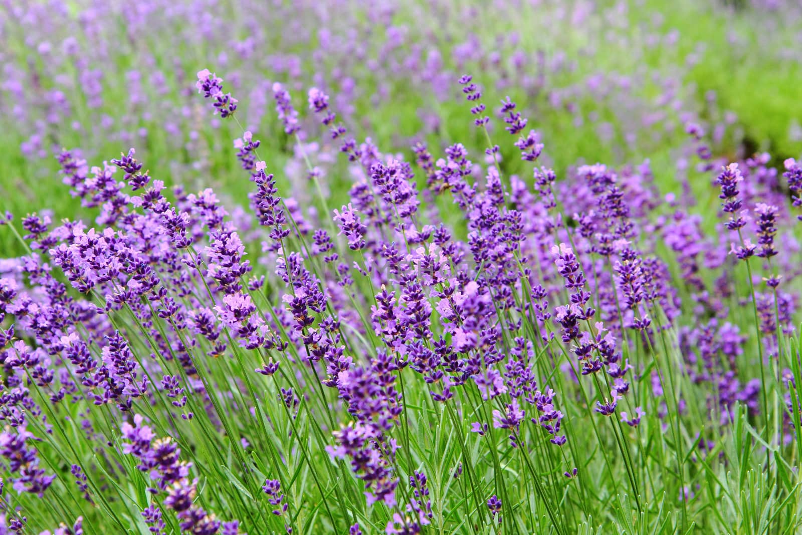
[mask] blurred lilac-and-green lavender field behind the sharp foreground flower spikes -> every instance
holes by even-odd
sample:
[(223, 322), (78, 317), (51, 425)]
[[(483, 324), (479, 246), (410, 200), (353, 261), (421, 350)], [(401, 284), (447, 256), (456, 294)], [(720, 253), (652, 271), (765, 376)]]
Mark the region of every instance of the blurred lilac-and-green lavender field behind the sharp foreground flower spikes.
[[(558, 176), (648, 160), (661, 193), (710, 197), (714, 211), (689, 124), (708, 168), (802, 152), (799, 0), (2, 0), (0, 43), (0, 195), (18, 217), (82, 212), (61, 184), (63, 148), (92, 166), (133, 147), (154, 178), (212, 187), (229, 211), (247, 205), (252, 184), (233, 157), (241, 131), (196, 94), (203, 68), (239, 100), (237, 120), (301, 206), (306, 168), (277, 120), (274, 82), (301, 112), (331, 205), (351, 180), (307, 110), (313, 86), (382, 152), (414, 160), (416, 142), (435, 155), (459, 142), (480, 160), (486, 140), (457, 83), (471, 74), (497, 103), (489, 111), (508, 95), (518, 103)], [(514, 151), (501, 148), (505, 173), (524, 169)]]

